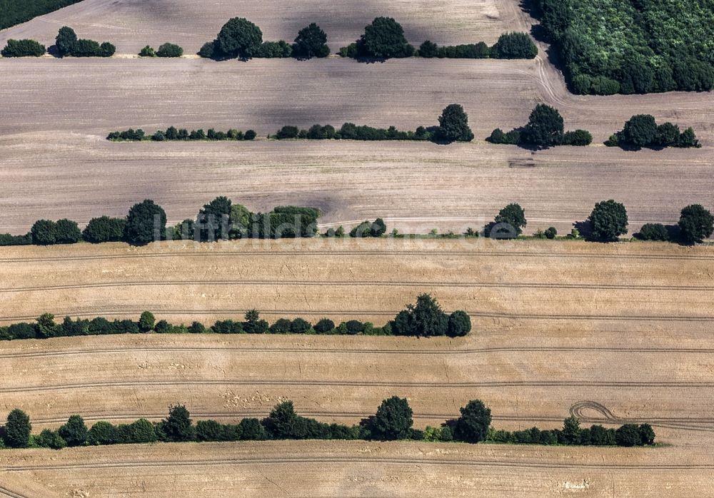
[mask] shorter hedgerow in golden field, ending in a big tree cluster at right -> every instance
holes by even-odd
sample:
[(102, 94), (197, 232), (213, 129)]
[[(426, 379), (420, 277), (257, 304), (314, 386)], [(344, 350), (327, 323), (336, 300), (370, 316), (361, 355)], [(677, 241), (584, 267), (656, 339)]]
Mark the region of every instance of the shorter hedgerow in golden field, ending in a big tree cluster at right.
[(36, 322), (20, 322), (0, 327), (0, 340), (49, 339), (79, 335), (114, 334), (307, 334), (307, 335), (401, 335), (411, 337), (463, 337), (471, 332), (471, 317), (465, 311), (444, 312), (441, 305), (428, 294), (419, 295), (416, 304), (408, 305), (393, 320), (382, 327), (371, 322), (348, 320), (335, 324), (329, 318), (316, 323), (303, 318), (280, 318), (268, 324), (257, 310), (246, 312), (245, 320), (218, 320), (211, 327), (201, 322), (174, 325), (166, 320), (156, 321), (154, 314), (145, 311), (139, 321), (114, 320), (104, 317), (93, 320), (64, 317), (57, 323), (54, 315), (45, 313)]

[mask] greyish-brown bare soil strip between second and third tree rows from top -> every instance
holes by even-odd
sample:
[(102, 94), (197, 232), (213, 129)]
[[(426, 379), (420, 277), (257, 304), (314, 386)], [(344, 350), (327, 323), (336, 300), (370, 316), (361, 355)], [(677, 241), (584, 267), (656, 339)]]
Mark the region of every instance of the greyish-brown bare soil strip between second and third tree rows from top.
[[(690, 203), (712, 207), (710, 148), (626, 153), (433, 143), (110, 143), (100, 137), (33, 133), (0, 137), (0, 233), (27, 233), (40, 218), (81, 224), (126, 215), (145, 198), (171, 223), (195, 218), (216, 195), (253, 211), (320, 208), (324, 225), (381, 217), (388, 230), (441, 233), (481, 228), (504, 205), (526, 209), (526, 233), (570, 233), (593, 205), (625, 203), (630, 232), (675, 223)], [(289, 179), (289, 181), (286, 181)], [(324, 226), (322, 227), (324, 230)]]

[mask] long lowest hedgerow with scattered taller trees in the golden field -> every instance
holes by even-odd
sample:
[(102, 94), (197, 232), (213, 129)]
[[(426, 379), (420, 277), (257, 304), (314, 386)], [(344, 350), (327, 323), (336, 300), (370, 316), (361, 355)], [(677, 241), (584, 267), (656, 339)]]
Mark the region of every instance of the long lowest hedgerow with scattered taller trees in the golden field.
[(440, 427), (413, 427), (413, 410), (406, 398), (392, 396), (381, 402), (374, 415), (358, 425), (327, 424), (301, 417), (293, 402), (283, 401), (263, 419), (246, 417), (238, 424), (199, 420), (194, 424), (185, 405), (172, 405), (160, 422), (144, 418), (131, 424), (113, 425), (106, 421), (87, 427), (80, 415), (71, 415), (58, 430), (45, 429), (32, 434), (30, 417), (19, 408), (9, 412), (0, 430), (3, 447), (27, 448), (100, 446), (105, 444), (141, 444), (151, 442), (262, 441), (269, 439), (363, 439), (397, 441), (412, 439), (428, 442), (501, 442), (509, 444), (579, 444), (597, 446), (645, 446), (655, 442), (655, 432), (648, 424), (625, 424), (618, 429), (601, 425), (580, 428), (575, 417), (565, 419), (562, 430), (508, 432), (491, 427), (491, 410), (481, 400), (471, 400), (459, 410), (461, 415), (446, 420)]

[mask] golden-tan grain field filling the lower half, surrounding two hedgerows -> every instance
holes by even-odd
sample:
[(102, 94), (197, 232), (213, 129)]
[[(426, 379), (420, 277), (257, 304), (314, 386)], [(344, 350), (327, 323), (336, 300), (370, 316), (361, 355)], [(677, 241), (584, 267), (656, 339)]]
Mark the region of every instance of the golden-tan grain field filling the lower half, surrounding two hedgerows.
[[(36, 429), (88, 422), (303, 415), (357, 422), (389, 395), (416, 425), (481, 398), (494, 425), (652, 422), (656, 449), (280, 442), (159, 444), (0, 453), (20, 496), (287, 494), (677, 496), (712, 492), (711, 248), (664, 244), (319, 240), (258, 245), (4, 248), (3, 321), (41, 310), (174, 322), (235, 317), (371, 319), (423, 290), (473, 313), (463, 340), (405, 337), (124, 335), (3, 345), (6, 407)], [(69, 283), (69, 284), (68, 284)], [(266, 303), (270, 303), (266, 309)], [(299, 310), (299, 313), (298, 313)], [(683, 402), (686, 400), (686, 402)], [(201, 477), (198, 477), (201, 476)], [(230, 477), (228, 477), (230, 476)], [(42, 492), (39, 490), (42, 489)], [(678, 491), (679, 490), (679, 491)]]

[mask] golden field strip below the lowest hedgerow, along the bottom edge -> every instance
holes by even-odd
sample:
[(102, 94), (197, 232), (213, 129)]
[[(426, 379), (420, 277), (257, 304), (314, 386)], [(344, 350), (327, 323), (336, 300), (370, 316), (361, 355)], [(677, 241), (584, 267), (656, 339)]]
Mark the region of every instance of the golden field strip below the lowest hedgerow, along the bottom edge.
[(663, 492), (690, 497), (714, 492), (711, 454), (674, 447), (157, 444), (0, 452), (0, 465), (12, 497), (655, 497)]

